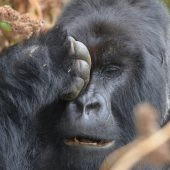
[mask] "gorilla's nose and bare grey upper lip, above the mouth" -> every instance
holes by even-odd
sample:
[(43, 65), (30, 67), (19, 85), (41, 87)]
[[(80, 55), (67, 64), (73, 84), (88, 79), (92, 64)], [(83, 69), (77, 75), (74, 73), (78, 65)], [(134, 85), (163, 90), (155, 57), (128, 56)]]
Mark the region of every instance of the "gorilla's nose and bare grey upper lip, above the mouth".
[(116, 129), (110, 104), (104, 95), (95, 92), (86, 92), (68, 103), (62, 122), (66, 124), (66, 136), (89, 140), (106, 140)]

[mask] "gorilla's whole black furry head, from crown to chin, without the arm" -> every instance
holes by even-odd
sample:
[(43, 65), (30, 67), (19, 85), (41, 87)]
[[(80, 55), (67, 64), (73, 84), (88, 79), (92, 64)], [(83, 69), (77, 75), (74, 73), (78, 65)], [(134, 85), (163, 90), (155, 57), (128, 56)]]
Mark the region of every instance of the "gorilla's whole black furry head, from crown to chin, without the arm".
[(67, 7), (60, 24), (88, 47), (92, 69), (75, 101), (46, 109), (54, 120), (46, 154), (58, 169), (97, 170), (108, 153), (134, 137), (136, 104), (166, 112), (166, 22), (155, 0), (77, 0)]

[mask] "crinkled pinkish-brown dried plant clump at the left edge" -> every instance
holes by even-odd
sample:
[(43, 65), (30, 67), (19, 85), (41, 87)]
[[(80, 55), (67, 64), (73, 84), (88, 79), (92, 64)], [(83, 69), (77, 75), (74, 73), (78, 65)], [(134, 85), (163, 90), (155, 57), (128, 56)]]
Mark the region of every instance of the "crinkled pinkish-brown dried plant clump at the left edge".
[(42, 30), (44, 23), (29, 14), (20, 14), (9, 6), (0, 7), (0, 22), (9, 24), (9, 30), (0, 29), (0, 51), (16, 42), (30, 38)]

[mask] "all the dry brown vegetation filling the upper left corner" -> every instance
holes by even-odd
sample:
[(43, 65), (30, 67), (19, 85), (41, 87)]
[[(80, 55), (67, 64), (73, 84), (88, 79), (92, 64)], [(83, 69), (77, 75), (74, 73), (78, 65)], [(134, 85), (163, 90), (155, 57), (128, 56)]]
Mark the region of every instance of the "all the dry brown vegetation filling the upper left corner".
[[(2, 49), (29, 38), (40, 30), (51, 28), (62, 8), (69, 0), (3, 0), (0, 7), (0, 22), (7, 21), (11, 30), (0, 29), (0, 52)], [(29, 13), (29, 15), (28, 15)], [(42, 22), (43, 20), (43, 22)]]

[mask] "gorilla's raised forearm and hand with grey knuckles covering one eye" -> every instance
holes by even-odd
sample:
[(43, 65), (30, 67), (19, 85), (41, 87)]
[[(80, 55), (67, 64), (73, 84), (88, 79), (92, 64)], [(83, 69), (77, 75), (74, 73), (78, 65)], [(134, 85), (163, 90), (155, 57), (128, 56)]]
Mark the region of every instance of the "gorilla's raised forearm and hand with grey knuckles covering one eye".
[[(72, 100), (87, 84), (89, 72), (86, 47), (60, 29), (12, 47), (0, 58), (0, 113), (31, 117), (53, 100)], [(72, 83), (79, 87), (72, 89)]]

